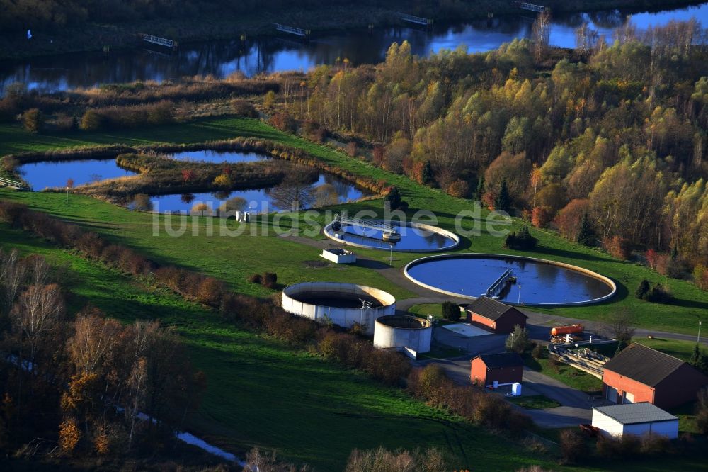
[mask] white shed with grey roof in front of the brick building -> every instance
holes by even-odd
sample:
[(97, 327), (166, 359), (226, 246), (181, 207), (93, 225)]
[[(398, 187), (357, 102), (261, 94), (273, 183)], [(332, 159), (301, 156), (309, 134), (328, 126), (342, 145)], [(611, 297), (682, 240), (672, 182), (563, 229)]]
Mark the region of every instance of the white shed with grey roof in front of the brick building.
[(649, 402), (593, 407), (593, 426), (615, 437), (624, 434), (678, 437), (678, 417)]

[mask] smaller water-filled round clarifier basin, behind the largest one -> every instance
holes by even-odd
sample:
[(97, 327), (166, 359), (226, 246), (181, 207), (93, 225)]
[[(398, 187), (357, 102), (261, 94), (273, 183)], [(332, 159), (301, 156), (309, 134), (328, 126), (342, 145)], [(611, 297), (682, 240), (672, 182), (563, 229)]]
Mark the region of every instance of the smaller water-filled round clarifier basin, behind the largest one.
[(331, 240), (354, 247), (399, 252), (447, 251), (459, 245), (454, 232), (423, 223), (389, 220), (333, 221), (324, 228)]

